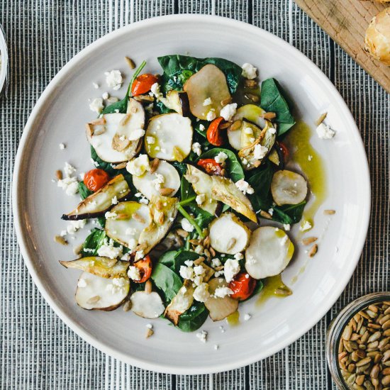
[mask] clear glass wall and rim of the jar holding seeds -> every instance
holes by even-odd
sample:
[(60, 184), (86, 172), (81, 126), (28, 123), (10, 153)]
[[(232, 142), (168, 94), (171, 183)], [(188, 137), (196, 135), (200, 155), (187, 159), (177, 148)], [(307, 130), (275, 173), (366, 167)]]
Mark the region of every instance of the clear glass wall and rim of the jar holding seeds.
[(356, 313), (361, 311), (372, 303), (379, 303), (381, 301), (390, 301), (390, 291), (382, 291), (373, 294), (361, 296), (355, 301), (345, 306), (345, 308), (338, 313), (338, 316), (333, 318), (326, 332), (326, 360), (328, 361), (328, 367), (330, 374), (332, 374), (333, 380), (340, 390), (350, 390), (350, 387), (345, 383), (342, 377), (340, 367), (338, 365), (338, 346), (342, 331), (345, 326), (350, 322)]

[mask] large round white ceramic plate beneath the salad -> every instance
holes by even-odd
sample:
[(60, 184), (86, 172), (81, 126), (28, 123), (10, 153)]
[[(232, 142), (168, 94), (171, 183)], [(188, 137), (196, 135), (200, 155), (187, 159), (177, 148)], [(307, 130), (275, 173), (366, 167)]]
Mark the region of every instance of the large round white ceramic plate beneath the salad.
[[(316, 216), (313, 235), (321, 235), (323, 208), (337, 210), (323, 235), (318, 255), (308, 262), (286, 299), (270, 299), (255, 307), (255, 299), (240, 305), (250, 321), (230, 328), (208, 320), (205, 344), (195, 333), (182, 333), (163, 320), (152, 321), (155, 335), (145, 340), (143, 318), (124, 313), (85, 311), (74, 302), (79, 272), (58, 260), (71, 260), (72, 248), (53, 242), (66, 222), (64, 211), (77, 204), (52, 183), (65, 161), (85, 172), (91, 169), (84, 123), (94, 118), (88, 99), (100, 96), (92, 82), (104, 85), (104, 71), (121, 69), (130, 79), (123, 56), (137, 64), (147, 60), (149, 72), (159, 72), (156, 57), (166, 54), (224, 57), (250, 62), (260, 78), (276, 77), (294, 100), (300, 118), (313, 123), (328, 111), (337, 135), (312, 143), (326, 161), (329, 195)], [(125, 94), (121, 89), (120, 96)], [(116, 95), (119, 95), (119, 92)], [(59, 143), (67, 145), (59, 149)], [(70, 328), (100, 350), (145, 369), (177, 374), (220, 372), (274, 354), (315, 325), (338, 299), (354, 271), (369, 221), (369, 172), (362, 140), (350, 111), (325, 75), (298, 50), (260, 28), (211, 16), (165, 16), (127, 26), (97, 40), (61, 69), (50, 82), (28, 120), (16, 158), (13, 211), (16, 232), (30, 274), (50, 306)], [(84, 235), (87, 232), (84, 232)], [(294, 235), (294, 233), (292, 234)], [(82, 242), (82, 234), (71, 243)], [(336, 252), (335, 247), (338, 247)], [(303, 250), (284, 272), (291, 279), (307, 261)], [(220, 325), (226, 328), (221, 333)], [(214, 345), (219, 345), (214, 350)]]

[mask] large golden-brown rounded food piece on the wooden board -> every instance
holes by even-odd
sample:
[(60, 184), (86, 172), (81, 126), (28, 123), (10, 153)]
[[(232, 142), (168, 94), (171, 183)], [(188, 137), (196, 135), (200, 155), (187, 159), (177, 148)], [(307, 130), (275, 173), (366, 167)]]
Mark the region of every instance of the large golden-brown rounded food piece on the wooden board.
[(374, 16), (366, 30), (364, 50), (375, 60), (390, 65), (390, 8)]

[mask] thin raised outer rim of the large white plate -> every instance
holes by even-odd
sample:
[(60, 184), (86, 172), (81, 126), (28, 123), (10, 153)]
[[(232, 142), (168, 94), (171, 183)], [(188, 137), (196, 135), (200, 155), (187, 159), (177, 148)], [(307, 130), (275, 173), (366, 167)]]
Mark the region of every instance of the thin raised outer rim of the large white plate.
[[(61, 79), (63, 77), (67, 76), (68, 69), (71, 70), (74, 65), (77, 65), (77, 62), (79, 60), (83, 60), (89, 52), (95, 50), (95, 48), (98, 48), (101, 45), (104, 45), (106, 41), (109, 41), (113, 38), (116, 38), (116, 36), (126, 34), (129, 31), (136, 30), (140, 26), (147, 26), (150, 27), (159, 26), (160, 24), (165, 23), (172, 23), (174, 21), (177, 21), (179, 19), (187, 19), (189, 21), (213, 21), (217, 24), (225, 24), (230, 25), (230, 27), (237, 26), (238, 28), (242, 30), (247, 30), (252, 33), (255, 33), (257, 35), (267, 36), (267, 38), (271, 40), (276, 40), (277, 42), (284, 45), (286, 50), (290, 50), (292, 55), (295, 57), (298, 57), (303, 62), (305, 62), (305, 65), (308, 68), (311, 68), (314, 72), (316, 72), (316, 75), (319, 79), (321, 79), (322, 82), (324, 82), (328, 88), (330, 93), (335, 96), (335, 99), (338, 100), (339, 108), (342, 110), (342, 113), (345, 115), (345, 121), (347, 123), (350, 123), (352, 128), (354, 128), (355, 132), (355, 138), (357, 138), (357, 147), (360, 149), (360, 154), (364, 155), (364, 171), (362, 172), (362, 182), (364, 182), (364, 190), (365, 194), (364, 199), (367, 199), (367, 208), (363, 211), (364, 216), (362, 218), (362, 228), (360, 229), (360, 235), (361, 239), (360, 242), (355, 245), (355, 250), (352, 252), (352, 257), (354, 258), (354, 262), (351, 262), (351, 266), (349, 269), (347, 269), (345, 274), (344, 282), (340, 283), (338, 286), (338, 289), (335, 289), (332, 294), (332, 299), (328, 301), (328, 304), (326, 306), (323, 306), (323, 309), (321, 311), (318, 311), (316, 316), (313, 316), (313, 320), (308, 322), (308, 325), (306, 325), (304, 328), (301, 328), (301, 330), (296, 331), (296, 333), (291, 333), (289, 337), (284, 339), (283, 342), (279, 342), (275, 344), (273, 347), (269, 348), (269, 352), (267, 355), (262, 355), (261, 352), (258, 353), (251, 353), (250, 355), (247, 355), (247, 357), (242, 358), (238, 362), (231, 362), (229, 364), (214, 364), (212, 367), (203, 367), (203, 366), (196, 366), (196, 367), (176, 367), (172, 366), (169, 363), (165, 362), (149, 362), (148, 360), (142, 359), (140, 357), (133, 357), (130, 355), (126, 355), (122, 352), (118, 352), (114, 348), (104, 344), (100, 340), (98, 340), (93, 335), (90, 335), (87, 331), (84, 331), (82, 328), (79, 328), (79, 325), (72, 321), (71, 318), (68, 318), (64, 311), (60, 308), (60, 305), (58, 305), (54, 299), (50, 296), (48, 290), (45, 288), (45, 285), (40, 280), (40, 277), (38, 277), (38, 272), (36, 271), (36, 266), (32, 260), (32, 256), (30, 257), (27, 245), (26, 245), (26, 232), (23, 231), (22, 227), (22, 216), (21, 216), (21, 210), (18, 206), (18, 189), (19, 189), (19, 177), (21, 175), (21, 172), (19, 172), (23, 153), (25, 150), (25, 145), (28, 140), (28, 137), (30, 135), (30, 132), (33, 130), (33, 122), (35, 120), (35, 117), (40, 112), (41, 107), (45, 103), (45, 100), (48, 99), (48, 96), (50, 95), (51, 91), (54, 90), (57, 87), (57, 84), (61, 82)], [(367, 154), (364, 150), (364, 144), (362, 141), (362, 138), (360, 136), (360, 131), (357, 128), (357, 124), (355, 123), (355, 119), (352, 116), (352, 113), (350, 112), (350, 109), (347, 107), (347, 104), (345, 103), (344, 99), (340, 95), (340, 92), (338, 89), (335, 88), (332, 82), (330, 82), (330, 79), (326, 77), (326, 75), (322, 72), (322, 70), (317, 67), (316, 64), (314, 64), (306, 55), (303, 55), (302, 52), (300, 52), (298, 49), (296, 49), (294, 46), (292, 46), (290, 43), (286, 42), (282, 38), (277, 37), (277, 35), (274, 35), (272, 33), (269, 33), (267, 30), (263, 30), (262, 28), (259, 28), (257, 26), (253, 26), (249, 23), (245, 23), (243, 21), (237, 21), (230, 18), (225, 18), (223, 16), (210, 16), (210, 15), (198, 15), (198, 14), (182, 14), (182, 15), (166, 15), (166, 16), (156, 16), (153, 18), (147, 18), (143, 21), (137, 21), (135, 23), (130, 23), (127, 26), (123, 26), (121, 28), (118, 28), (117, 30), (112, 31), (111, 33), (108, 33), (101, 38), (95, 40), (93, 43), (87, 45), (86, 48), (81, 50), (77, 55), (72, 57), (67, 64), (60, 69), (57, 74), (55, 74), (55, 77), (50, 81), (47, 87), (45, 87), (45, 90), (40, 95), (38, 101), (36, 102), (35, 106), (33, 107), (33, 110), (30, 113), (30, 116), (28, 117), (28, 121), (26, 122), (26, 126), (23, 129), (23, 133), (21, 135), (21, 139), (19, 141), (18, 145), (18, 151), (16, 153), (16, 160), (15, 165), (13, 169), (13, 182), (12, 182), (12, 211), (13, 211), (13, 224), (16, 231), (16, 237), (18, 240), (18, 245), (21, 249), (21, 255), (23, 257), (23, 260), (26, 264), (26, 267), (28, 268), (28, 272), (30, 273), (31, 278), (33, 279), (33, 283), (35, 286), (38, 287), (38, 290), (40, 291), (40, 294), (42, 294), (45, 301), (48, 302), (50, 308), (52, 308), (53, 311), (61, 318), (61, 320), (71, 328), (74, 333), (79, 335), (83, 340), (87, 341), (90, 345), (93, 347), (96, 347), (96, 349), (100, 350), (101, 352), (104, 352), (111, 357), (114, 357), (118, 360), (121, 360), (122, 362), (126, 362), (128, 364), (132, 364), (136, 367), (140, 367), (142, 369), (149, 369), (154, 372), (161, 372), (166, 374), (212, 374), (216, 372), (223, 372), (228, 371), (230, 369), (238, 369), (240, 367), (244, 367), (247, 364), (252, 364), (254, 362), (257, 362), (259, 360), (263, 360), (269, 356), (274, 355), (275, 353), (279, 352), (279, 350), (282, 350), (284, 347), (288, 347), (291, 345), (292, 342), (295, 342), (299, 338), (302, 337), (305, 333), (308, 332), (311, 328), (313, 328), (314, 325), (316, 325), (323, 316), (329, 311), (329, 309), (335, 304), (335, 302), (338, 300), (340, 295), (342, 294), (342, 291), (344, 291), (345, 286), (350, 282), (350, 279), (352, 277), (353, 272), (355, 272), (355, 269), (357, 267), (357, 264), (360, 260), (360, 256), (362, 254), (362, 250), (364, 247), (364, 244), (366, 242), (367, 238), (367, 231), (369, 228), (369, 217), (371, 213), (371, 184), (369, 179), (369, 165), (367, 161)], [(261, 355), (261, 356), (260, 356)]]

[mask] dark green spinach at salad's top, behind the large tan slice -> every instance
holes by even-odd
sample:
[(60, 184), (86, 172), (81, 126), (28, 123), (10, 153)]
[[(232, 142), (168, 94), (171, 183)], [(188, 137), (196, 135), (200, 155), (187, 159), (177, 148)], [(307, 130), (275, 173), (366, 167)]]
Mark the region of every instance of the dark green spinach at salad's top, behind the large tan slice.
[[(182, 89), (184, 82), (191, 76), (188, 71), (196, 73), (204, 65), (213, 64), (225, 74), (230, 93), (234, 94), (238, 88), (243, 72), (243, 69), (234, 62), (217, 57), (195, 58), (186, 55), (165, 55), (158, 57), (157, 60), (160, 62), (166, 77), (172, 79), (172, 89), (177, 90)], [(165, 87), (169, 87), (167, 81), (165, 81)]]

